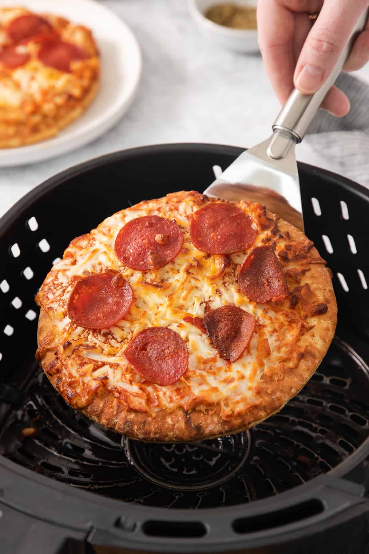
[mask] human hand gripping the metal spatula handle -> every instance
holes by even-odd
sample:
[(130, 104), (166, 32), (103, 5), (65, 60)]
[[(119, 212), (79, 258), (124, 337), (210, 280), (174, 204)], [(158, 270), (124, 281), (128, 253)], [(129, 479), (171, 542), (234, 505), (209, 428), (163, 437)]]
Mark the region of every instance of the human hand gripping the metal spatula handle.
[[(320, 89), (368, 6), (369, 0), (258, 0), (259, 45), (281, 104), (293, 86), (303, 94)], [(309, 17), (318, 12), (315, 20)], [(355, 40), (344, 71), (360, 69), (368, 60), (367, 24)], [(349, 112), (350, 102), (333, 86), (321, 107), (341, 117)]]

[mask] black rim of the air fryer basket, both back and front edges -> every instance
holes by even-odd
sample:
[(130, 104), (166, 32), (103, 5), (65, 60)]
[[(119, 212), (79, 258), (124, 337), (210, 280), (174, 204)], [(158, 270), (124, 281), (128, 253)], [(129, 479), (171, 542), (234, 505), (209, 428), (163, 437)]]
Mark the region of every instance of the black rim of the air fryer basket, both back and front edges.
[[(14, 217), (19, 217), (19, 214), (22, 214), (28, 210), (30, 203), (34, 202), (38, 198), (41, 198), (45, 193), (52, 191), (54, 188), (61, 186), (67, 179), (71, 177), (82, 175), (86, 171), (92, 170), (94, 167), (108, 166), (111, 163), (114, 163), (119, 160), (124, 160), (128, 158), (141, 158), (145, 155), (155, 155), (157, 153), (165, 153), (170, 157), (173, 153), (228, 153), (228, 155), (237, 156), (239, 155), (244, 148), (238, 148), (233, 146), (222, 146), (222, 145), (211, 145), (211, 144), (196, 144), (196, 143), (176, 143), (176, 144), (164, 144), (164, 145), (154, 145), (154, 146), (144, 146), (138, 148), (131, 148), (125, 151), (117, 151), (108, 155), (104, 155), (98, 158), (93, 158), (92, 160), (86, 161), (74, 167), (71, 167), (57, 175), (50, 177), (45, 182), (39, 184), (32, 191), (27, 193), (23, 198), (21, 198), (17, 203), (14, 204), (9, 211), (4, 214), (0, 219), (0, 238), (6, 234), (6, 228), (9, 223), (11, 223)], [(357, 184), (350, 179), (336, 175), (335, 173), (317, 168), (314, 166), (306, 165), (303, 163), (299, 164), (299, 168), (307, 175), (313, 173), (318, 174), (320, 177), (326, 181), (332, 183), (339, 182), (341, 186), (347, 190), (354, 189), (356, 193), (363, 198), (368, 198), (368, 191), (365, 187), (362, 187), (360, 184)], [(361, 485), (363, 483), (363, 472), (365, 468), (361, 462), (367, 458), (369, 455), (369, 438), (363, 442), (363, 444), (355, 451), (354, 454), (351, 454), (347, 460), (345, 460), (340, 465), (336, 466), (329, 474), (321, 475), (315, 479), (308, 481), (305, 484), (299, 485), (292, 490), (285, 491), (274, 497), (268, 497), (267, 499), (257, 500), (248, 505), (236, 505), (230, 507), (222, 507), (221, 510), (216, 508), (203, 509), (201, 514), (196, 511), (188, 511), (183, 509), (165, 509), (158, 507), (147, 507), (127, 504), (125, 502), (110, 499), (108, 497), (101, 497), (96, 494), (90, 493), (89, 491), (84, 491), (80, 489), (72, 488), (71, 486), (60, 483), (58, 481), (51, 480), (50, 478), (35, 473), (32, 470), (24, 468), (18, 464), (15, 464), (13, 461), (0, 456), (0, 482), (8, 482), (8, 492), (3, 497), (0, 496), (0, 505), (2, 502), (15, 506), (17, 504), (17, 509), (24, 511), (29, 514), (34, 513), (34, 494), (37, 494), (37, 490), (41, 487), (45, 491), (45, 502), (40, 506), (39, 512), (43, 512), (43, 515), (39, 516), (43, 520), (50, 520), (51, 522), (58, 521), (59, 525), (65, 525), (66, 527), (73, 527), (74, 520), (71, 517), (73, 511), (63, 510), (65, 521), (60, 521), (60, 514), (58, 517), (53, 519), (53, 511), (50, 510), (51, 502), (55, 502), (58, 505), (61, 502), (65, 502), (67, 505), (69, 502), (82, 502), (86, 506), (86, 515), (90, 514), (91, 517), (86, 517), (86, 521), (93, 521), (95, 523), (95, 510), (101, 512), (101, 523), (102, 527), (111, 527), (112, 531), (117, 531), (113, 527), (113, 519), (111, 519), (112, 514), (119, 514), (120, 516), (124, 515), (125, 512), (129, 514), (129, 517), (137, 522), (144, 522), (147, 520), (165, 520), (165, 521), (207, 521), (208, 519), (212, 521), (210, 534), (206, 535), (201, 540), (196, 542), (189, 542), (183, 540), (180, 542), (181, 551), (183, 552), (196, 552), (205, 550), (211, 545), (212, 550), (224, 550), (227, 546), (228, 548), (245, 548), (247, 544), (253, 546), (262, 546), (266, 545), (271, 538), (281, 535), (281, 528), (276, 527), (271, 529), (269, 532), (263, 531), (263, 534), (251, 533), (247, 536), (245, 535), (234, 535), (234, 541), (230, 543), (229, 533), (225, 532), (227, 537), (227, 543), (222, 543), (222, 530), (225, 529), (225, 525), (229, 525), (231, 521), (237, 517), (251, 517), (258, 514), (270, 513), (271, 511), (278, 511), (286, 506), (294, 506), (295, 504), (300, 504), (303, 500), (309, 499), (320, 499), (322, 504), (325, 507), (324, 514), (316, 515), (311, 517), (308, 520), (302, 520), (290, 524), (288, 527), (283, 527), (283, 536), (284, 540), (286, 535), (289, 533), (291, 536), (300, 530), (303, 527), (309, 526), (309, 534), (311, 534), (314, 529), (314, 525), (318, 527), (321, 522), (324, 521), (333, 521), (336, 517), (343, 514), (347, 509), (357, 506), (362, 506), (366, 508), (367, 500), (362, 498), (365, 489)], [(346, 479), (341, 479), (342, 476), (346, 475), (349, 471), (352, 474), (355, 473), (355, 476), (350, 475), (350, 481)], [(352, 483), (357, 481), (360, 485)], [(23, 485), (20, 487), (20, 481)], [(9, 492), (11, 493), (9, 495)], [(12, 500), (9, 500), (12, 499)], [(16, 499), (16, 500), (13, 500)], [(52, 500), (51, 500), (52, 499)], [(84, 511), (84, 510), (82, 510)], [(92, 512), (94, 514), (92, 515)], [(50, 516), (48, 514), (51, 514)], [(103, 519), (106, 519), (103, 522)], [(214, 521), (216, 524), (214, 525)], [(306, 523), (307, 521), (307, 523)], [(77, 528), (81, 528), (87, 531), (86, 525)], [(216, 530), (219, 532), (216, 532)], [(163, 551), (169, 551), (173, 547), (172, 543), (162, 538), (150, 537), (150, 548), (148, 546), (147, 537), (146, 542), (144, 541), (144, 535), (137, 535), (136, 533), (121, 534), (119, 539), (127, 541), (127, 545), (130, 544), (129, 540), (132, 541), (132, 545), (136, 548), (144, 547), (146, 550), (152, 548), (160, 548)]]

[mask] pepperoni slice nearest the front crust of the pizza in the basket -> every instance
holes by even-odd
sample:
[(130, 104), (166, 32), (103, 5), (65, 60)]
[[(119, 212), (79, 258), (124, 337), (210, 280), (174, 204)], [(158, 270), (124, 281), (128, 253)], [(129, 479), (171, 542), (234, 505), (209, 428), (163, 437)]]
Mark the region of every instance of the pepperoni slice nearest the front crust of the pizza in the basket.
[(178, 381), (188, 366), (186, 343), (168, 327), (148, 327), (139, 332), (124, 355), (137, 373), (160, 385)]

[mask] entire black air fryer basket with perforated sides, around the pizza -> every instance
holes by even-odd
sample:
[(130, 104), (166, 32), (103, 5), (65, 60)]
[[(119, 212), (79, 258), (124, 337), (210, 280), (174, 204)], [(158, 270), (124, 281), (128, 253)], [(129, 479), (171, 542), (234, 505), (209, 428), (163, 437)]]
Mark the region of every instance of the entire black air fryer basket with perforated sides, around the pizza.
[(67, 538), (131, 551), (368, 552), (363, 187), (299, 165), (305, 232), (334, 274), (339, 325), (303, 391), (250, 432), (175, 445), (127, 440), (67, 406), (34, 360), (34, 295), (69, 241), (144, 198), (202, 191), (212, 166), (240, 153), (214, 145), (113, 153), (49, 179), (0, 220), (4, 554), (54, 554)]

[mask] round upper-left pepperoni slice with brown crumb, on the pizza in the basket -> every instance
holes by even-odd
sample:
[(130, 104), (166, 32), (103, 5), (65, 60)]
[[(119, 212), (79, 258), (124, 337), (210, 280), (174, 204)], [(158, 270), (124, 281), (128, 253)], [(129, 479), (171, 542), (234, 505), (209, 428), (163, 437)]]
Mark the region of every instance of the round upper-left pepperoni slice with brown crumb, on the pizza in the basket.
[(183, 233), (174, 221), (143, 216), (122, 227), (115, 240), (115, 253), (129, 268), (147, 271), (167, 265), (182, 245)]

